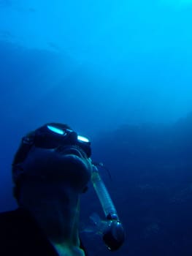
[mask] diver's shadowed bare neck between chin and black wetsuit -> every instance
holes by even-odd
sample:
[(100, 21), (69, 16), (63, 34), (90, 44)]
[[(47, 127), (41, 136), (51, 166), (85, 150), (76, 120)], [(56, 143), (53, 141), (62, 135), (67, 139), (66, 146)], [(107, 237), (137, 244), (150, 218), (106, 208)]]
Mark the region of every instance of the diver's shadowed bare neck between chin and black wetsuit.
[(23, 197), (22, 205), (31, 212), (53, 245), (66, 247), (67, 250), (77, 250), (80, 248), (78, 232), (80, 195), (66, 187), (47, 189), (46, 191), (44, 188), (42, 193), (36, 187), (37, 196), (33, 193), (30, 199), (29, 195), (26, 196), (26, 200)]

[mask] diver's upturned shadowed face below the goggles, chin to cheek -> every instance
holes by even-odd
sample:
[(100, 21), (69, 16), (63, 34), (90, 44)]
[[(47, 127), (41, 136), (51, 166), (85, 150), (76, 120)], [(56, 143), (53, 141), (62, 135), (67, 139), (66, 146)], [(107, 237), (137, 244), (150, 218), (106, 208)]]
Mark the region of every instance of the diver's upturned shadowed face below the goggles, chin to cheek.
[[(63, 184), (77, 192), (85, 189), (91, 179), (91, 159), (78, 146), (66, 145), (54, 149), (33, 146), (23, 162), (26, 177), (44, 184)], [(39, 177), (39, 179), (38, 179)]]

